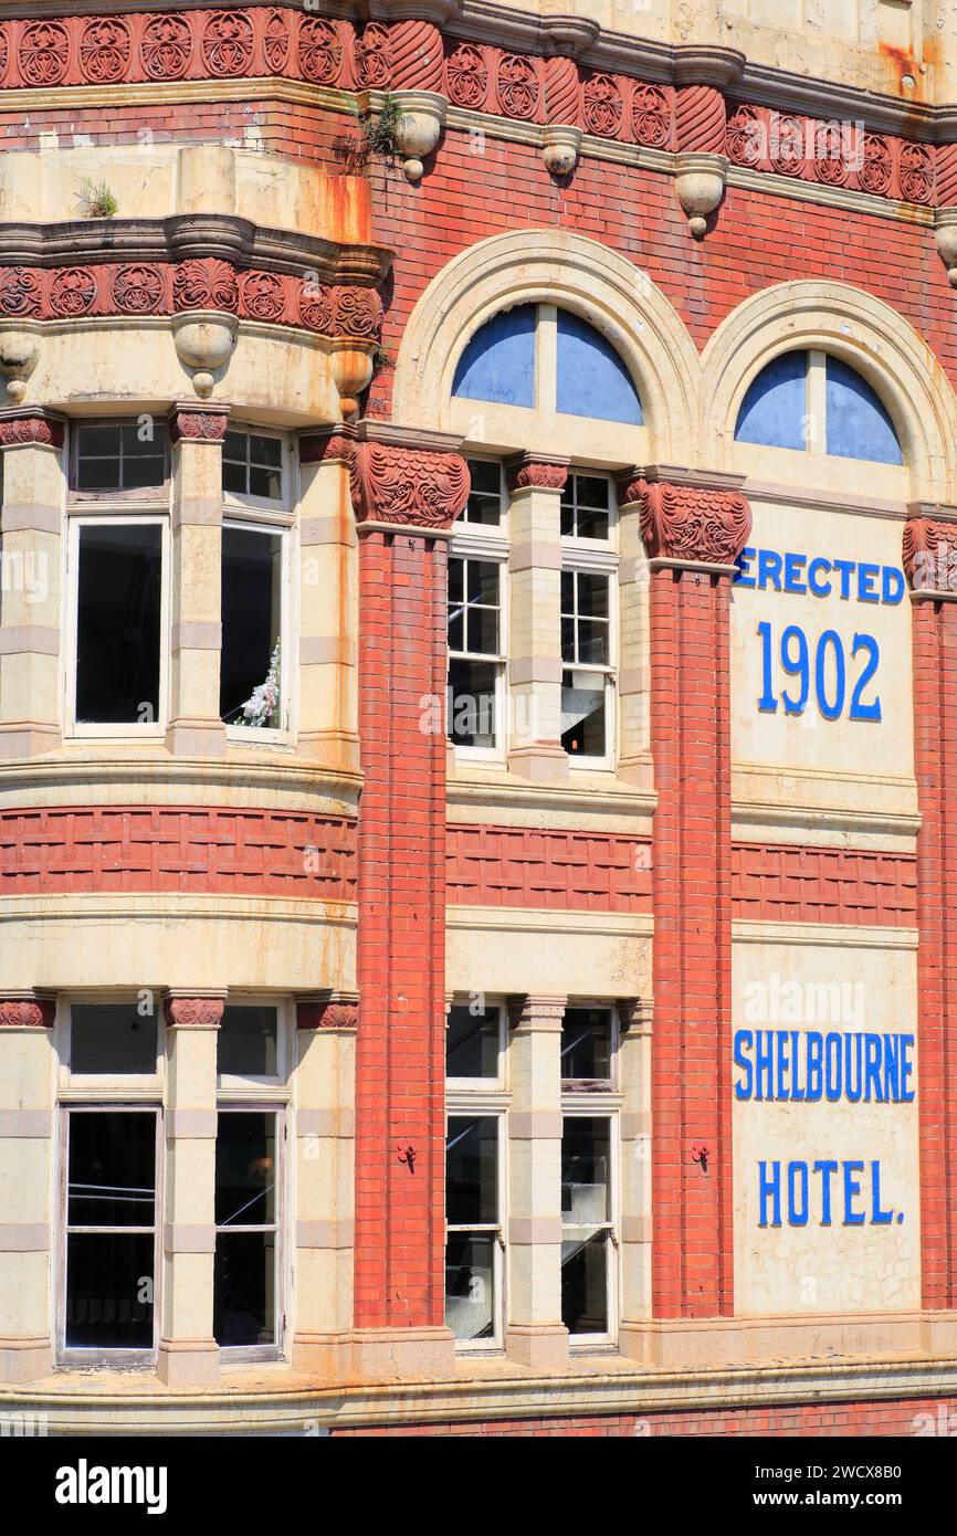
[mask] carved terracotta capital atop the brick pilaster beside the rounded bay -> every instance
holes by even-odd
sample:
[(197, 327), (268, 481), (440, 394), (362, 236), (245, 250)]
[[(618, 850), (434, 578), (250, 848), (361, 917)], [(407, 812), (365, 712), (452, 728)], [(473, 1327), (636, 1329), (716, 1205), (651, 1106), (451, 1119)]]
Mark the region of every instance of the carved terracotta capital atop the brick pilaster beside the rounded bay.
[(449, 533), (469, 501), (461, 438), (364, 418), (355, 429), (352, 505), (359, 524)]

